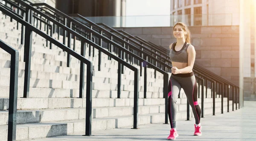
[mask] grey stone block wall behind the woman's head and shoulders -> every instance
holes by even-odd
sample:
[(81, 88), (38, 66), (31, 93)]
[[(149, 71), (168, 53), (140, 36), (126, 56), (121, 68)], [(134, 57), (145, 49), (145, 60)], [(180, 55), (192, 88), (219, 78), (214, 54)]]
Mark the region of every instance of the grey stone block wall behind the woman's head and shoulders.
[[(169, 49), (173, 27), (116, 28)], [(239, 26), (192, 26), (196, 63), (239, 85)]]

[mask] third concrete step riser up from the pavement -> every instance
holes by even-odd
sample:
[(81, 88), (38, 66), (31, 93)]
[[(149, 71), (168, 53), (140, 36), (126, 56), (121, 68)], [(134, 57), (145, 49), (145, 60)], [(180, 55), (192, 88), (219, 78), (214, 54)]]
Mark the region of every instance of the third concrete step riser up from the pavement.
[[(223, 98), (227, 101), (227, 98)], [(215, 98), (215, 103), (220, 103), (221, 98)], [(164, 98), (139, 98), (139, 106), (148, 105), (164, 105)], [(201, 104), (201, 98), (198, 98)], [(212, 98), (204, 98), (204, 103), (212, 103)], [(18, 98), (17, 109), (52, 109), (52, 108), (80, 108), (85, 107), (86, 98)], [(186, 98), (178, 98), (178, 109), (186, 109)], [(109, 107), (109, 106), (134, 106), (133, 98), (92, 98), (93, 107)], [(9, 109), (9, 98), (0, 98), (0, 110)]]

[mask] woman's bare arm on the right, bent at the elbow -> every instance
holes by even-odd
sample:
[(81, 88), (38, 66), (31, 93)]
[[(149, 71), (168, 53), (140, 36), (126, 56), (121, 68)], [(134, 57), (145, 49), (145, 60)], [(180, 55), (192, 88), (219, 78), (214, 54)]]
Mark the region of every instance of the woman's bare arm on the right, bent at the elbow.
[(195, 48), (192, 45), (188, 46), (188, 66), (183, 69), (178, 69), (178, 73), (189, 73), (192, 71), (194, 63), (195, 63)]

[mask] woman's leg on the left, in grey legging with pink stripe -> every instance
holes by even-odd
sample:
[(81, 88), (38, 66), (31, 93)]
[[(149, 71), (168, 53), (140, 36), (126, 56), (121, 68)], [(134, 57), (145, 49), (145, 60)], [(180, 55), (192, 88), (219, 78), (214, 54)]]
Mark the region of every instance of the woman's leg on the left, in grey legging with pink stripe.
[(168, 115), (171, 128), (176, 128), (176, 114), (177, 114), (177, 98), (180, 93), (180, 83), (171, 76), (168, 86)]

